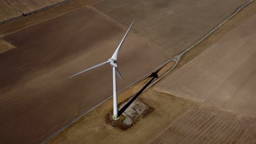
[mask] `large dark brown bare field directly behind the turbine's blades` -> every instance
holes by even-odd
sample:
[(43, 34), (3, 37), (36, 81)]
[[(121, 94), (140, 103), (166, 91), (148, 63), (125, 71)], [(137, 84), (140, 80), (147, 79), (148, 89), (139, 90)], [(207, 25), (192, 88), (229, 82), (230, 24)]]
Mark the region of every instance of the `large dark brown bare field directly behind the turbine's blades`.
[[(83, 8), (4, 37), (17, 47), (0, 55), (1, 141), (43, 141), (112, 95), (109, 65), (68, 77), (110, 58), (126, 30)], [(118, 89), (167, 59), (130, 33), (119, 54)]]

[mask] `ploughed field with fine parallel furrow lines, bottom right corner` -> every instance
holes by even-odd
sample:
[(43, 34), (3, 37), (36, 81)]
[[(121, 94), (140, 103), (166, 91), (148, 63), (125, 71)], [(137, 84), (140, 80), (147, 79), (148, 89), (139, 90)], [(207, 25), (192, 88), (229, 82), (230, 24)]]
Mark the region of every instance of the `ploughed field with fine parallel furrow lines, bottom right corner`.
[(194, 106), (149, 143), (256, 143), (256, 119)]

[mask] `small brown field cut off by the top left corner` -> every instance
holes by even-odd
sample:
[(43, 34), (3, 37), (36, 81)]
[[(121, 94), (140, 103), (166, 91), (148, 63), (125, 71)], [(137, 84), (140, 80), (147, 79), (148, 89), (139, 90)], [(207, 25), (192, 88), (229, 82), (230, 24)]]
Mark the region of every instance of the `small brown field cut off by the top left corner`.
[(28, 13), (46, 6), (62, 2), (63, 0), (1, 0), (0, 1), (0, 21), (7, 20), (22, 13)]

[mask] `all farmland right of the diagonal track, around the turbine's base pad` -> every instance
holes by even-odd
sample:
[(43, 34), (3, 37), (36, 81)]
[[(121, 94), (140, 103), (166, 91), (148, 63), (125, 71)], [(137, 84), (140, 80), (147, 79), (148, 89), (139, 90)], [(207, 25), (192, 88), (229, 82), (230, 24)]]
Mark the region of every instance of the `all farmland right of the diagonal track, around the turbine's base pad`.
[[(252, 21), (254, 21), (256, 14), (254, 6), (255, 3), (252, 3), (243, 9), (241, 13), (220, 27), (217, 32), (214, 32), (209, 38), (194, 47), (191, 52), (186, 53), (181, 60), (181, 64), (178, 65), (178, 69), (174, 69), (173, 72), (139, 96), (147, 104), (155, 107), (155, 111), (150, 113), (148, 117), (143, 118), (138, 124), (127, 131), (119, 131), (104, 123), (104, 115), (111, 109), (112, 103), (109, 100), (61, 134), (55, 136), (49, 143), (85, 143), (89, 141), (95, 143), (255, 143), (256, 119), (253, 113), (255, 109), (254, 105), (251, 104), (255, 101), (253, 97), (254, 89), (249, 89), (255, 83), (251, 82), (254, 79), (249, 75), (251, 73), (253, 75), (252, 71), (255, 68), (252, 65), (253, 59), (250, 59), (254, 55), (253, 51), (255, 51), (253, 48), (254, 41), (252, 40), (255, 36), (253, 31), (246, 31), (247, 28), (253, 29), (254, 22)], [(232, 39), (235, 39), (236, 43)], [(246, 40), (247, 42), (241, 42), (240, 40)], [(236, 44), (236, 46), (232, 44)], [(213, 46), (216, 47), (212, 48)], [(247, 50), (251, 51), (247, 52)], [(230, 52), (232, 55), (229, 53), (229, 56), (225, 56), (225, 52)], [(234, 61), (234, 57), (238, 54), (243, 57)], [(227, 68), (211, 68), (222, 64), (216, 60), (203, 61), (207, 63), (204, 67), (197, 66), (198, 64), (203, 64), (198, 59), (202, 60), (202, 57), (211, 59), (212, 56), (219, 58), (219, 61), (223, 61), (223, 64), (228, 62), (229, 67), (225, 65)], [(226, 57), (225, 61), (221, 59), (221, 56)], [(233, 61), (230, 61), (229, 58)], [(239, 58), (239, 56), (236, 56), (236, 58)], [(247, 69), (242, 69), (245, 71), (240, 72), (242, 64)], [(231, 69), (230, 67), (235, 68)], [(206, 82), (199, 81), (203, 76), (202, 73), (197, 71), (194, 75), (190, 74), (194, 73), (193, 70), (197, 68), (206, 71), (207, 76), (210, 78), (211, 71), (205, 69), (222, 71), (217, 73), (219, 75), (240, 72), (239, 76), (232, 77), (234, 81), (232, 81), (231, 86), (240, 86), (241, 82), (245, 81), (242, 88), (237, 87), (237, 91), (247, 92), (247, 95), (241, 95), (242, 99), (238, 97), (240, 95), (231, 91), (232, 89), (226, 88), (232, 94), (229, 101), (231, 104), (233, 103), (233, 107), (222, 105), (223, 101), (226, 100), (224, 95), (212, 94), (212, 97), (214, 96), (214, 100), (216, 100), (214, 103), (213, 100), (208, 102), (209, 100), (202, 99), (200, 91), (205, 94), (212, 92), (211, 87), (207, 87), (207, 84), (209, 83), (212, 87), (218, 86), (213, 82), (218, 82), (222, 79), (215, 78), (205, 79), (207, 80)], [(180, 75), (180, 73), (183, 75)], [(242, 74), (245, 74), (245, 76), (242, 76)], [(190, 79), (193, 83), (190, 83), (189, 76), (191, 76)], [(223, 80), (231, 82), (229, 79)], [(141, 83), (144, 82), (142, 81)], [(207, 88), (199, 87), (198, 85), (200, 84)], [(189, 89), (188, 87), (184, 88), (183, 85), (194, 87)], [(137, 83), (137, 86), (132, 86), (121, 93), (121, 100), (132, 95), (132, 92), (136, 91), (136, 87), (141, 87), (141, 84)], [(194, 97), (193, 91), (198, 91), (195, 92), (197, 95)], [(244, 104), (247, 104), (247, 106)], [(103, 107), (104, 109), (109, 107), (109, 109), (102, 111)], [(95, 115), (96, 113), (98, 115)], [(91, 122), (90, 119), (97, 119), (97, 121)], [(86, 137), (84, 137), (85, 135)], [(115, 139), (113, 139), (113, 135), (115, 135)], [(96, 139), (96, 137), (101, 137), (101, 139)]]

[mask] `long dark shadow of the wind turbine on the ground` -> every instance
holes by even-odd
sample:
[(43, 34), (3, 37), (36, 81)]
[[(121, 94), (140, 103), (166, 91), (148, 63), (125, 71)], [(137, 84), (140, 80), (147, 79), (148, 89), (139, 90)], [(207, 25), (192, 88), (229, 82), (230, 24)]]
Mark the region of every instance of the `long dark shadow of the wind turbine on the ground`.
[[(165, 65), (164, 65), (165, 66)], [(164, 67), (163, 66), (163, 67)], [(141, 95), (141, 93), (150, 85), (150, 83), (152, 83), (154, 81), (154, 79), (158, 79), (158, 73), (159, 71), (163, 68), (161, 67), (159, 70), (155, 71), (154, 73), (152, 73), (151, 75), (149, 75), (148, 77), (146, 77), (144, 80), (146, 79), (150, 79), (150, 77), (152, 77), (152, 79), (150, 79), (150, 81), (141, 89), (139, 90), (139, 92), (137, 94), (135, 94), (135, 96), (124, 106), (122, 107), (122, 109), (120, 111), (118, 111), (118, 117), (121, 116), (123, 114), (123, 112), (133, 103), (133, 101), (135, 101), (139, 95)], [(147, 81), (148, 81), (147, 80)], [(147, 82), (146, 81), (146, 82)], [(145, 83), (146, 83), (145, 82)]]

